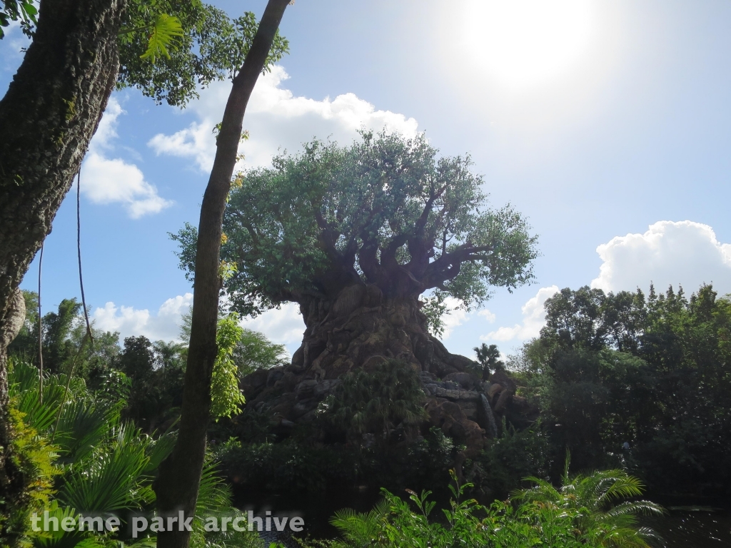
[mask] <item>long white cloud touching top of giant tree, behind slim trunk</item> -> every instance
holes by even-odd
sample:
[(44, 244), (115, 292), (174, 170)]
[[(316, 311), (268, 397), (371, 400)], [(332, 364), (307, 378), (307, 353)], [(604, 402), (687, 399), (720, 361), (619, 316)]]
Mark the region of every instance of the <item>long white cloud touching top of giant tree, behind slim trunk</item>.
[[(260, 77), (246, 109), (244, 128), (250, 138), (240, 151), (246, 155), (243, 165), (264, 166), (282, 150), (300, 150), (313, 137), (349, 144), (361, 127), (414, 135), (417, 121), (389, 110), (376, 110), (373, 104), (355, 94), (342, 94), (322, 101), (298, 97), (281, 85), (289, 76), (281, 66)], [(216, 154), (213, 126), (221, 121), (231, 89), (228, 82), (213, 83), (201, 91), (201, 98), (191, 104), (199, 120), (172, 134), (157, 134), (148, 145), (158, 154), (191, 158), (202, 171), (208, 171)]]

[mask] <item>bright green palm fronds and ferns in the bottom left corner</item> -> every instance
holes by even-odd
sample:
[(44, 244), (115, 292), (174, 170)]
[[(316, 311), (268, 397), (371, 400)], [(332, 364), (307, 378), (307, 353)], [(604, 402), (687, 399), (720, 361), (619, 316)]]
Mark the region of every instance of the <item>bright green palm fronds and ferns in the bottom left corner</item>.
[[(113, 512), (128, 520), (130, 512), (151, 511), (151, 484), (159, 464), (173, 448), (175, 434), (152, 438), (124, 421), (121, 411), (130, 386), (124, 373), (96, 392), (82, 379), (65, 375), (45, 376), (41, 389), (37, 370), (15, 362), (9, 381), (12, 416), (19, 433), (14, 443), (30, 479), (30, 504), (18, 505), (17, 514), (0, 518), (9, 536), (16, 543), (45, 548), (130, 542), (124, 522), (117, 533), (35, 531), (29, 512), (48, 511), (60, 519)], [(199, 515), (237, 513), (231, 506), (230, 488), (216, 475), (211, 460), (200, 490)], [(201, 519), (193, 526), (194, 547), (224, 544), (221, 534), (205, 533)], [(260, 545), (255, 535), (237, 536), (234, 544), (238, 546)]]

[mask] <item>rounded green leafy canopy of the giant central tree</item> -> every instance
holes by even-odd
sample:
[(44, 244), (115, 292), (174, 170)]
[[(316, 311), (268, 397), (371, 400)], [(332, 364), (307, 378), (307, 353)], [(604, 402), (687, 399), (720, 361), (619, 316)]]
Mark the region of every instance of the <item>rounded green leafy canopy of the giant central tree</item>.
[[(536, 237), (510, 205), (487, 208), (469, 156), (439, 157), (423, 134), (363, 132), (347, 147), (314, 140), (238, 175), (221, 257), (233, 307), (260, 313), (353, 281), (387, 297), (430, 289), (469, 307), (490, 286), (530, 281)], [(196, 231), (177, 235), (193, 277)]]

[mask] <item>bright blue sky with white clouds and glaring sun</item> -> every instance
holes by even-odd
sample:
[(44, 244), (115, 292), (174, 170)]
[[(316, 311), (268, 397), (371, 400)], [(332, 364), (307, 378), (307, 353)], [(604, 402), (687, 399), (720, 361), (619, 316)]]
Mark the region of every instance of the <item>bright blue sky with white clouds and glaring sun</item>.
[[(213, 1), (232, 17), (265, 1)], [(731, 292), (731, 4), (722, 0), (298, 0), (281, 32), (291, 53), (260, 78), (244, 119), (242, 167), (313, 137), (425, 132), (469, 153), (493, 207), (510, 202), (539, 235), (536, 279), (496, 288), (447, 316), (443, 340), (471, 356), (538, 335), (558, 289), (651, 282)], [(0, 41), (0, 94), (27, 45)], [(96, 327), (178, 336), (192, 302), (175, 243), (197, 224), (229, 82), (185, 110), (115, 92), (81, 171), (82, 259)], [(78, 297), (75, 192), (45, 241), (45, 311)], [(22, 283), (37, 290), (38, 257)], [(284, 305), (246, 327), (299, 346)]]

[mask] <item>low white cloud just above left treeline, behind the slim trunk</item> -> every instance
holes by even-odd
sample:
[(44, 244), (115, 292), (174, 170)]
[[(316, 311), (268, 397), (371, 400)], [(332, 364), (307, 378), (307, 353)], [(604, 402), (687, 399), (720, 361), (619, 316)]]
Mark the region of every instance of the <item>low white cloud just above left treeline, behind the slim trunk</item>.
[[(103, 331), (118, 331), (120, 337), (144, 335), (150, 340), (178, 340), (182, 316), (190, 310), (193, 294), (186, 293), (162, 303), (153, 315), (146, 308), (117, 306), (107, 302), (92, 313), (94, 327)], [(274, 343), (287, 346), (299, 345), (305, 324), (297, 304), (289, 302), (279, 310), (267, 311), (256, 318), (241, 321), (246, 329), (260, 331)]]

